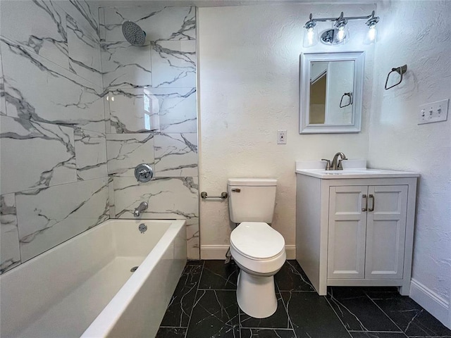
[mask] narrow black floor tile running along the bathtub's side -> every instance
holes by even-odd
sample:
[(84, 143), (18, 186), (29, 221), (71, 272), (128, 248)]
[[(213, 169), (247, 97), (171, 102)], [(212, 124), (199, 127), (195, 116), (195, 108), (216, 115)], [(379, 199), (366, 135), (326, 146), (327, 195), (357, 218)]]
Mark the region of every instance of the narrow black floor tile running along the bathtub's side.
[(187, 262), (161, 321), (161, 326), (188, 326), (203, 266), (204, 262), (201, 261)]

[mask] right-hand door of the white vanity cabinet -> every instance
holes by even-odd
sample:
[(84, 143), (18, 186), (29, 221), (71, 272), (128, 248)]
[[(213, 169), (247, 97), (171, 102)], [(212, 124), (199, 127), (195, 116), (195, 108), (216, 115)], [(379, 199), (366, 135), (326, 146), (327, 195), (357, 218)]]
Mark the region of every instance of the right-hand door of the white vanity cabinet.
[(407, 185), (369, 186), (368, 194), (365, 278), (401, 279)]

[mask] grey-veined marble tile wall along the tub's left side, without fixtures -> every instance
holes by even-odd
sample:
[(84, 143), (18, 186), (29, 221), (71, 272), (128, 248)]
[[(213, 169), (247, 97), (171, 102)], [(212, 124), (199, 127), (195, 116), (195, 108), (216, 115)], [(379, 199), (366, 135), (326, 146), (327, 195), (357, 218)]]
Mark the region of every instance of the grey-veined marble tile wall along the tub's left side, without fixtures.
[(97, 8), (0, 3), (0, 273), (109, 218)]

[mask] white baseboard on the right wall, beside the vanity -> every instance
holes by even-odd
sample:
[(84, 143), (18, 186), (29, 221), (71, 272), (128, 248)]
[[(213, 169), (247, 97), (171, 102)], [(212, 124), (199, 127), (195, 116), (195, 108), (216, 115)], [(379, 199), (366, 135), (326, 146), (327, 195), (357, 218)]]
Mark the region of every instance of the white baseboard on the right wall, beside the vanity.
[(413, 278), (410, 284), (410, 298), (423, 306), (426, 311), (440, 320), (443, 325), (451, 329), (451, 309), (449, 302)]

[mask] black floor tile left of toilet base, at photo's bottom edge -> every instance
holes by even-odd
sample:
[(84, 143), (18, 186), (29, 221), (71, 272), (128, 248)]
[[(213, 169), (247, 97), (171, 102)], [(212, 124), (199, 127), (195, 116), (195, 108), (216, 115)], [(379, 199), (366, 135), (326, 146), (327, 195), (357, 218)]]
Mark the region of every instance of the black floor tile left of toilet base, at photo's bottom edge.
[(199, 290), (187, 338), (240, 337), (238, 304), (233, 290)]

